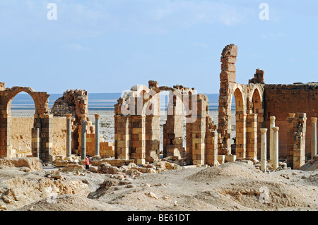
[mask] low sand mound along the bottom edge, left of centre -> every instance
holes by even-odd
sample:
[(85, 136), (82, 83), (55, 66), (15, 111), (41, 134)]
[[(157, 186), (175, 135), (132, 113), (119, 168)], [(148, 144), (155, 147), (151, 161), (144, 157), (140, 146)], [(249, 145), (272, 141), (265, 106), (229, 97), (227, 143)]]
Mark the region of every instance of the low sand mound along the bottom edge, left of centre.
[(88, 199), (78, 195), (58, 195), (47, 197), (16, 211), (114, 211), (121, 208)]

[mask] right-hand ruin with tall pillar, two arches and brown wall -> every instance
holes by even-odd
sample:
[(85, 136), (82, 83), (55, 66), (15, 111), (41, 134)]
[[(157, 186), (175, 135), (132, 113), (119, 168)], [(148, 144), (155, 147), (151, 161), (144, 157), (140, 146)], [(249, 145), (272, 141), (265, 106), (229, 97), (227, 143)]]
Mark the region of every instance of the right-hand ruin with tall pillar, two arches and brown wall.
[[(221, 56), (218, 111), (218, 154), (231, 154), (231, 102), (235, 97), (235, 154), (237, 158), (257, 159), (260, 154), (261, 128), (270, 128), (275, 117), (279, 127), (279, 155), (288, 158), (292, 168), (305, 164), (312, 145), (310, 120), (317, 117), (318, 83), (266, 85), (264, 71), (257, 69), (248, 85), (235, 82), (237, 46), (230, 44)], [(290, 114), (293, 115), (290, 117)], [(295, 115), (296, 118), (295, 118)], [(269, 135), (269, 133), (268, 133)], [(269, 146), (270, 138), (266, 138)], [(267, 151), (269, 152), (269, 151)]]

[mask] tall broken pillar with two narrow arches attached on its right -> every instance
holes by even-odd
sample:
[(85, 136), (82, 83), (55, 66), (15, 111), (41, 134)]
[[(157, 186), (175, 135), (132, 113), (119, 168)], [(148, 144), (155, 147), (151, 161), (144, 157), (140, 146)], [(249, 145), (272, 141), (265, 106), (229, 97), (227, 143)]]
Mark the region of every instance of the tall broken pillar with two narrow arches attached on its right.
[(237, 84), (235, 62), (237, 46), (230, 44), (223, 49), (221, 56), (220, 95), (218, 107), (218, 154), (231, 152), (231, 107), (235, 97), (236, 138), (235, 154), (237, 158), (257, 159), (260, 152), (261, 132), (264, 124), (264, 71), (257, 70), (248, 85)]

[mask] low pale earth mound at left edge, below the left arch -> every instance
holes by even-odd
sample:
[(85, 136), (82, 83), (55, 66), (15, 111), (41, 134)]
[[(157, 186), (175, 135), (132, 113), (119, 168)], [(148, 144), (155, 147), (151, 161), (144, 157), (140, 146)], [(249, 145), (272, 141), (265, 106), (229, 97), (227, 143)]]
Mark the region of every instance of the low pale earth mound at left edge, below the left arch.
[(36, 157), (25, 157), (15, 159), (0, 159), (0, 166), (7, 167), (28, 167), (30, 171), (42, 171), (42, 164), (39, 158)]

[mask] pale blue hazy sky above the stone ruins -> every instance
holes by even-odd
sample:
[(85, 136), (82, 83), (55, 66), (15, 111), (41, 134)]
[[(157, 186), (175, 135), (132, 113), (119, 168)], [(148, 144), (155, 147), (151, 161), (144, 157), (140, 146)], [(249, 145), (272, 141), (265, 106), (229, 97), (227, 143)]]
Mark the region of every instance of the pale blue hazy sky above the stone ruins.
[(220, 54), (236, 44), (237, 83), (257, 68), (267, 84), (318, 82), (317, 11), (315, 0), (1, 0), (0, 81), (52, 94), (148, 80), (218, 93)]

